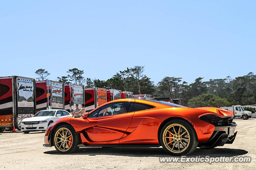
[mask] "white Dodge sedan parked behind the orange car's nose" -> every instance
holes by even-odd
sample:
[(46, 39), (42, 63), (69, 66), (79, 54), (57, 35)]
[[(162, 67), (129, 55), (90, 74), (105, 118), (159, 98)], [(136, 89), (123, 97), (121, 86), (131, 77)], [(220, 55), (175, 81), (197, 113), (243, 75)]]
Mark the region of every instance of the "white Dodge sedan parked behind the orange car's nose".
[(23, 119), (21, 122), (21, 130), (24, 133), (29, 133), (30, 131), (45, 131), (50, 124), (62, 117), (72, 117), (72, 115), (66, 110), (42, 110), (33, 117)]

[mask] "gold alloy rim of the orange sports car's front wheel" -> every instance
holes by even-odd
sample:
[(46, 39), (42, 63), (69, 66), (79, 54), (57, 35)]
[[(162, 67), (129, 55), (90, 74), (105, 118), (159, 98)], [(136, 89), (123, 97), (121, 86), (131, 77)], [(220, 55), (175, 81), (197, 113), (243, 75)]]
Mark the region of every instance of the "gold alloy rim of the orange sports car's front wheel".
[(68, 151), (73, 143), (71, 131), (65, 127), (58, 129), (54, 136), (54, 143), (58, 150), (62, 152)]

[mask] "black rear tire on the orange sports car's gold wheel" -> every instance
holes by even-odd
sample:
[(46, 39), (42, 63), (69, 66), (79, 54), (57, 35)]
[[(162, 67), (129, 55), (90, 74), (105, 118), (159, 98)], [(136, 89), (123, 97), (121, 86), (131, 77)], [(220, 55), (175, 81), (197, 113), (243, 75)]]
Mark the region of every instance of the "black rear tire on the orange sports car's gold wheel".
[[(166, 131), (166, 129), (169, 128), (169, 130), (170, 130), (172, 127), (173, 127), (173, 129), (176, 128), (175, 131), (178, 131), (178, 133), (174, 134), (175, 131), (169, 133), (170, 135), (171, 134), (174, 135), (174, 136), (171, 135), (172, 139), (170, 139), (170, 137), (166, 137), (165, 135), (168, 132), (168, 130)], [(178, 127), (178, 129), (177, 129), (177, 127)], [(180, 131), (180, 129), (182, 131)], [(180, 133), (183, 133), (184, 135), (180, 134)], [(187, 138), (189, 140), (185, 140), (185, 138)], [(174, 144), (170, 143), (169, 145), (167, 145), (168, 142), (169, 142), (168, 140), (171, 141), (172, 143), (174, 142)], [(165, 145), (165, 143), (167, 143), (167, 144)], [(163, 149), (167, 153), (172, 154), (174, 156), (180, 156), (180, 155), (186, 155), (186, 154), (190, 154), (190, 153), (194, 152), (196, 150), (196, 147), (198, 146), (198, 138), (197, 138), (197, 135), (196, 135), (196, 131), (194, 130), (192, 125), (190, 125), (188, 122), (186, 122), (184, 120), (180, 120), (180, 119), (178, 119), (178, 120), (171, 120), (168, 123), (166, 123), (164, 125), (164, 127), (162, 127), (162, 129), (161, 129), (161, 132), (160, 132), (160, 144), (162, 145)], [(176, 144), (178, 144), (178, 147), (176, 147), (177, 146)], [(172, 150), (170, 149), (171, 147), (172, 147)], [(180, 147), (182, 147), (183, 149), (180, 150)], [(173, 149), (177, 149), (177, 150), (175, 151)]]

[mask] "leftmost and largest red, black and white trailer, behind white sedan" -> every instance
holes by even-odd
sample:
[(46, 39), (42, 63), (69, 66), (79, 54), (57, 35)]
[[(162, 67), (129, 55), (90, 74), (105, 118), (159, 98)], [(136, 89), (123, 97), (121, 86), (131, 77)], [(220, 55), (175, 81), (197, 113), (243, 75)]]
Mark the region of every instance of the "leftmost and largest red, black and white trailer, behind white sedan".
[(0, 77), (0, 131), (13, 126), (20, 130), (22, 119), (32, 117), (36, 108), (34, 78)]

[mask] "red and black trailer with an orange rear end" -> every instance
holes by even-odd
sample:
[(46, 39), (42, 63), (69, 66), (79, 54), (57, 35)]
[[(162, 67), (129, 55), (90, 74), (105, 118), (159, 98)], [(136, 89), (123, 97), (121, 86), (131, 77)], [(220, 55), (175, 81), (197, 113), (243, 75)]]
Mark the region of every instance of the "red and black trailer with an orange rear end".
[(92, 111), (96, 107), (107, 102), (106, 89), (104, 88), (85, 88), (84, 104), (86, 112)]

